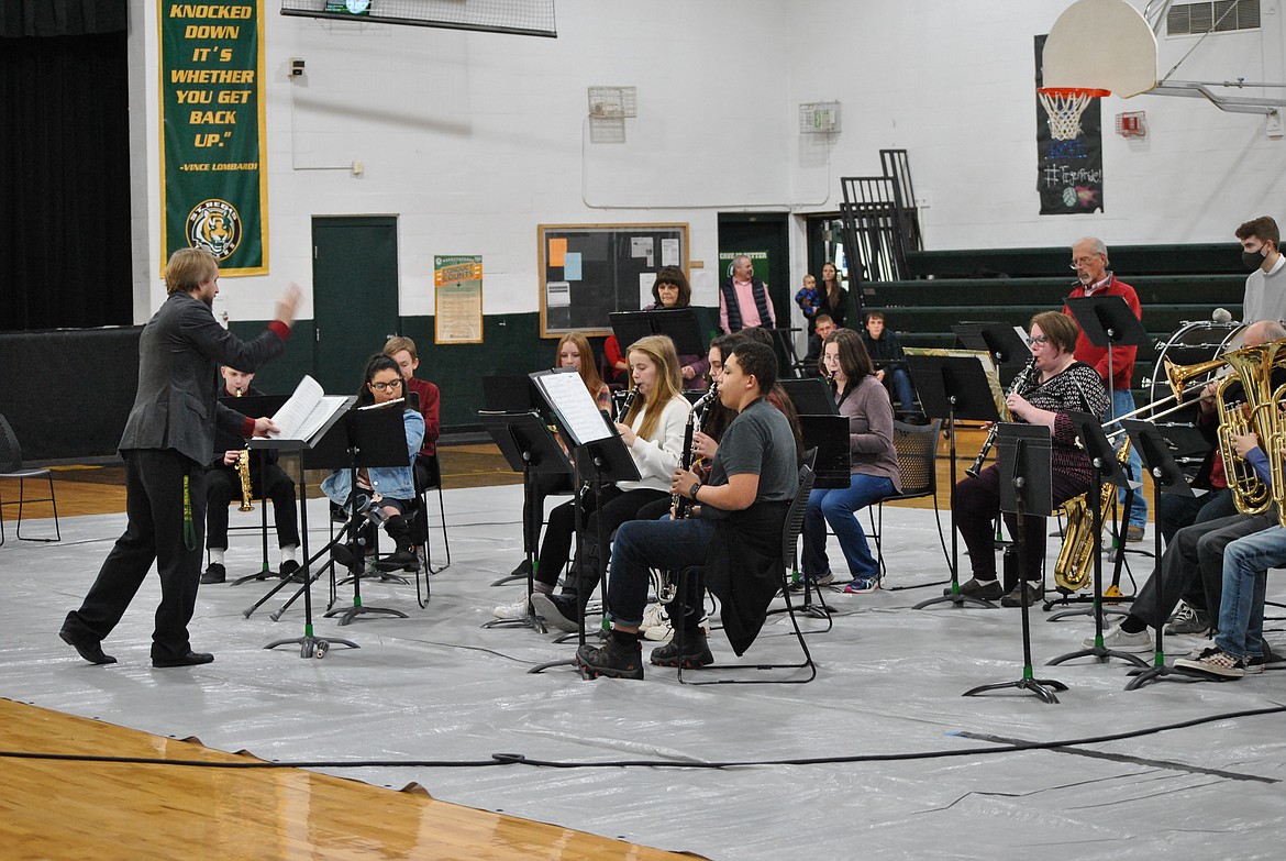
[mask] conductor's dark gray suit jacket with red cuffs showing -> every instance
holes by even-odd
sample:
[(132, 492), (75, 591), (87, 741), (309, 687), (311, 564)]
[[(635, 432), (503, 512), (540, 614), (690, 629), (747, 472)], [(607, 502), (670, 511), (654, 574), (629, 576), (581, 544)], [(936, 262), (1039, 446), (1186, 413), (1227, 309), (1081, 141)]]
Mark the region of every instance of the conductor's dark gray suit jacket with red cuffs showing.
[(219, 366), (253, 372), (284, 349), (271, 329), (242, 341), (215, 322), (204, 302), (174, 293), (139, 337), (139, 394), (121, 450), (172, 448), (203, 465), (213, 450), (215, 421), (231, 434), (240, 434), (246, 421), (215, 396)]

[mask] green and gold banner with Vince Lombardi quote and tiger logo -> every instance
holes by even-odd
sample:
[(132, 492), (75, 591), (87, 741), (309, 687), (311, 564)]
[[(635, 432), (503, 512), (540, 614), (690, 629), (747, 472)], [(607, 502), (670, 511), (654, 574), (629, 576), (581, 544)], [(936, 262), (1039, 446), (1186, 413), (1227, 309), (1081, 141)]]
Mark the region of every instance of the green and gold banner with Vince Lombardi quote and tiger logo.
[(266, 274), (264, 3), (158, 3), (162, 270), (199, 246), (222, 275)]

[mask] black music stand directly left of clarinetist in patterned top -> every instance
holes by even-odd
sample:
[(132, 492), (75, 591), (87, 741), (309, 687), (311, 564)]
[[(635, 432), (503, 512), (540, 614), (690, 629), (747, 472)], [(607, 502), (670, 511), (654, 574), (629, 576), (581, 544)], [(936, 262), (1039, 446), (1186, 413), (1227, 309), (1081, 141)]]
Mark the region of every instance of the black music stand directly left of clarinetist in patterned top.
[[(955, 421), (998, 422), (1001, 413), (995, 409), (992, 386), (986, 378), (983, 363), (975, 356), (954, 355), (908, 355), (907, 367), (910, 378), (919, 393), (919, 405), (930, 420), (943, 418), (948, 422), (950, 441), (952, 490), (955, 489)], [(961, 593), (959, 584), (959, 535), (955, 532), (955, 506), (952, 506), (952, 586), (939, 597), (927, 598), (914, 605), (913, 610), (923, 610), (935, 604), (949, 602), (961, 606), (964, 602), (992, 610), (997, 609), (986, 598), (976, 598)]]

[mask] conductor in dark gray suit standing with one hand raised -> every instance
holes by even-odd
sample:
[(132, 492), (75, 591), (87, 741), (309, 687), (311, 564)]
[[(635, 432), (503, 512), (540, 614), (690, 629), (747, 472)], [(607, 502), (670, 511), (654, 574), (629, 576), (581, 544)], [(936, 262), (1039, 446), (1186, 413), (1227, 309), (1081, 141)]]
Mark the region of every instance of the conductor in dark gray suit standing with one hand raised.
[(174, 252), (165, 270), (168, 299), (139, 338), (139, 394), (121, 438), (129, 524), (78, 610), (59, 636), (94, 664), (112, 664), (102, 641), (125, 615), (152, 562), (161, 575), (161, 605), (152, 634), (153, 667), (208, 664), (192, 650), (188, 623), (197, 604), (206, 525), (204, 462), (215, 423), (239, 436), (276, 430), (247, 418), (215, 396), (216, 371), (228, 364), (256, 371), (282, 354), (302, 293), (291, 286), (276, 319), (246, 342), (215, 322), (219, 263), (204, 248)]

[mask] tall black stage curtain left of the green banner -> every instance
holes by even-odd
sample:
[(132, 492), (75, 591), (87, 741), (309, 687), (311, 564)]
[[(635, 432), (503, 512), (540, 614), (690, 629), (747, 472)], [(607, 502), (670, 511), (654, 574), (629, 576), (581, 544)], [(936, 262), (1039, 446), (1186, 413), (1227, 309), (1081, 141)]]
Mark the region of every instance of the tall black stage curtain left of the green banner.
[(0, 5), (3, 331), (132, 322), (126, 60), (123, 1)]

